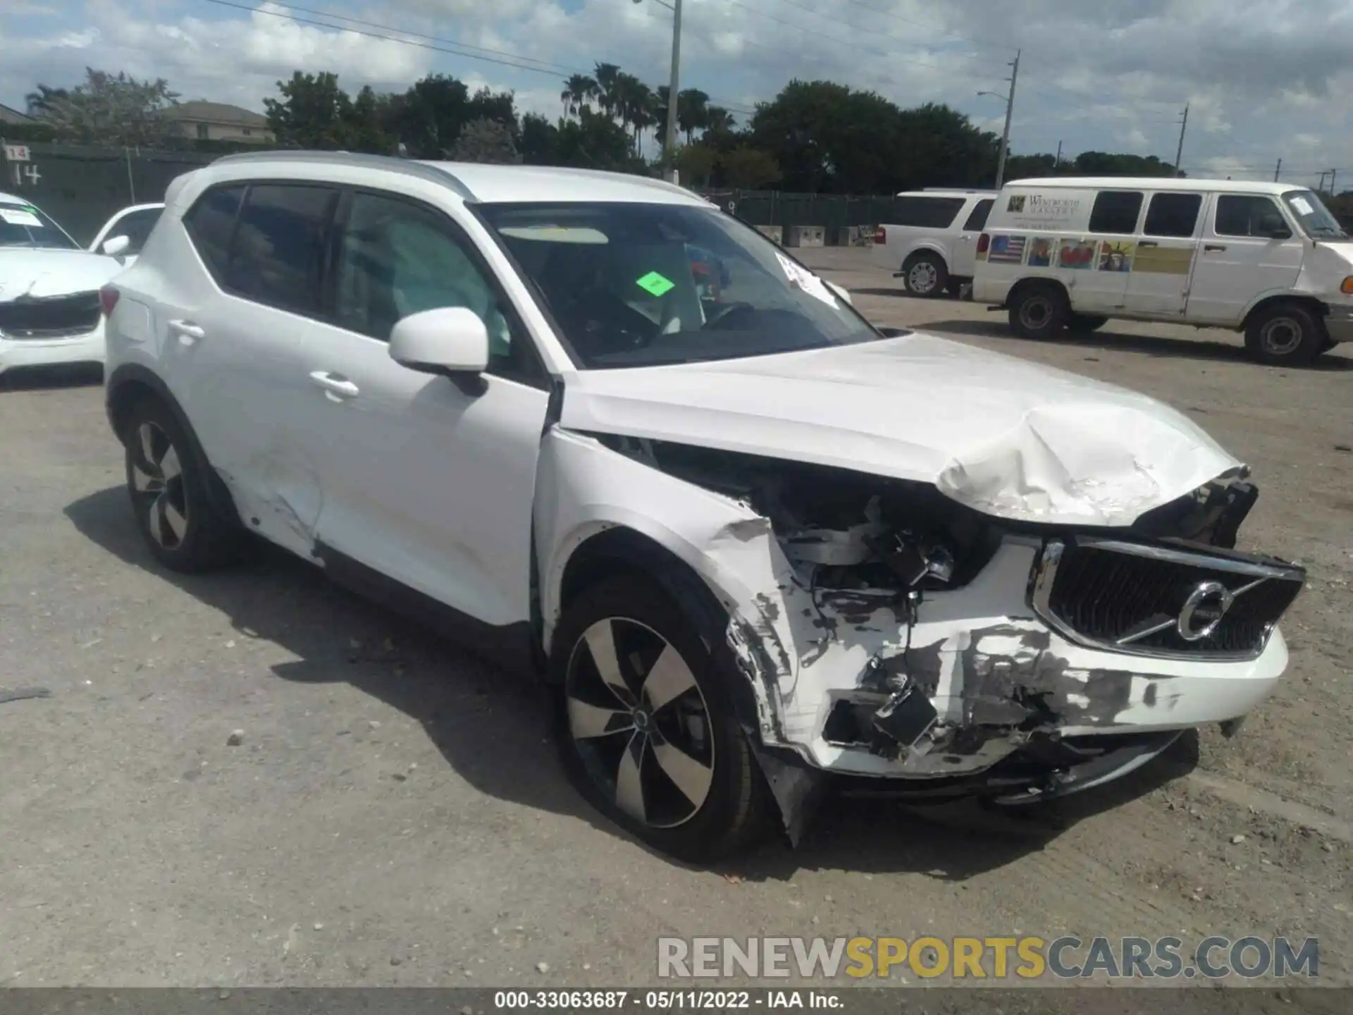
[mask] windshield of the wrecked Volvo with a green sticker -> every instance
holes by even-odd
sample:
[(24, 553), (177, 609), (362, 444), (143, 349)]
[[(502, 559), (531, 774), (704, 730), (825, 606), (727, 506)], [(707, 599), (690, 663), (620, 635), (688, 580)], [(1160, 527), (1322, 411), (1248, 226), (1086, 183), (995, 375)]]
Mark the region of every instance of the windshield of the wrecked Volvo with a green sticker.
[(580, 365), (766, 356), (881, 338), (821, 279), (717, 208), (482, 204)]

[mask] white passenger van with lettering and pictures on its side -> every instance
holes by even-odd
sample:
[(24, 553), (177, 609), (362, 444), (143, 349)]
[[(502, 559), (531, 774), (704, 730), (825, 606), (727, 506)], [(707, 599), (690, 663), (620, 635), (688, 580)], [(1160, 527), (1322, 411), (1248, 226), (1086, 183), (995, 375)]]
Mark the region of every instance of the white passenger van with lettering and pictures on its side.
[(1353, 338), (1353, 241), (1279, 183), (1059, 177), (1008, 184), (977, 242), (973, 299), (1049, 338), (1109, 318), (1245, 333), (1262, 363)]

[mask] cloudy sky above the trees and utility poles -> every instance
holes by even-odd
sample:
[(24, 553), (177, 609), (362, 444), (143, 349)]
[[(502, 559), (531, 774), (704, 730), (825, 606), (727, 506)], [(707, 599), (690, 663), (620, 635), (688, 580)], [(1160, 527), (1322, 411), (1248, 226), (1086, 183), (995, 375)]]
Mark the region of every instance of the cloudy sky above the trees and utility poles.
[[(664, 84), (656, 0), (4, 0), (0, 103), (84, 68), (165, 77), (183, 99), (262, 108), (294, 69), (403, 89), (429, 72), (511, 88), (557, 115), (597, 61)], [(682, 87), (746, 119), (790, 77), (947, 102), (1000, 130), (1022, 47), (1012, 150), (1172, 160), (1189, 106), (1193, 175), (1353, 184), (1353, 0), (685, 0)], [(1339, 188), (1342, 189), (1342, 187)]]

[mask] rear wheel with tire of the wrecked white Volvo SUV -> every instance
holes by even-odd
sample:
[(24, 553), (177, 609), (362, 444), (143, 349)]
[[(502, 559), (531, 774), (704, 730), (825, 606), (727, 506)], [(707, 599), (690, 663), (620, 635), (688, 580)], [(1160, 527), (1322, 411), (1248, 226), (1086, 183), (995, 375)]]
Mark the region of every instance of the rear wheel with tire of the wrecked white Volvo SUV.
[(212, 505), (207, 466), (175, 414), (156, 399), (138, 403), (129, 413), (122, 443), (131, 510), (156, 560), (183, 574), (233, 560), (239, 524)]

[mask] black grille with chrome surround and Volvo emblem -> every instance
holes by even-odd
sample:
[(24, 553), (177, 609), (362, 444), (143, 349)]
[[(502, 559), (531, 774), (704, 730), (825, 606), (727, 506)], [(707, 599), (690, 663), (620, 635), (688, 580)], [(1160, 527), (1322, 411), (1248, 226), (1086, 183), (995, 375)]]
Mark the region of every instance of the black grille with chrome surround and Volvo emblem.
[(1078, 537), (1047, 543), (1031, 598), (1084, 646), (1253, 659), (1304, 582), (1300, 567), (1234, 551)]

